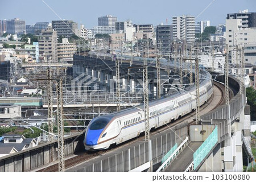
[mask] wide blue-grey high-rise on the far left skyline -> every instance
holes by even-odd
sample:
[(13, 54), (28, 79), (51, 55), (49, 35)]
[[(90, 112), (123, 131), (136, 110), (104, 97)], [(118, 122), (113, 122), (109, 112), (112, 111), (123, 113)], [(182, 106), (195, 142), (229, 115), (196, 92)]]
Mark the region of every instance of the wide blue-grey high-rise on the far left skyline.
[(6, 32), (8, 34), (22, 35), (26, 33), (25, 20), (19, 18), (6, 20)]

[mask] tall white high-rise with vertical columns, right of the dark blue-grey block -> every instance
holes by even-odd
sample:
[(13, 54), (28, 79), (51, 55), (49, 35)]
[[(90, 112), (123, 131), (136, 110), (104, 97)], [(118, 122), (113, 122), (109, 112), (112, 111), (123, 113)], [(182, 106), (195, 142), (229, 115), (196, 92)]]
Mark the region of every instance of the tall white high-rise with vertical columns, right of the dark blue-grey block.
[(188, 43), (195, 42), (195, 16), (174, 16), (172, 26), (174, 39), (186, 40)]

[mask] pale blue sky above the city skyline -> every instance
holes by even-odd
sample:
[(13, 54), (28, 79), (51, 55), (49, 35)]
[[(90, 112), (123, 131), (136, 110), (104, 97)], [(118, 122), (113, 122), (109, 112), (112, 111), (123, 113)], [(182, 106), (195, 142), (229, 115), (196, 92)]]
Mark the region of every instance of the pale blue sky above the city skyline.
[[(48, 6), (47, 6), (47, 5)], [(207, 7), (209, 6), (209, 7)], [(98, 24), (98, 17), (112, 15), (135, 24), (171, 24), (172, 16), (194, 15), (210, 20), (210, 25), (225, 23), (226, 14), (248, 9), (256, 12), (255, 0), (0, 0), (0, 19), (20, 18), (26, 24), (70, 19), (86, 28)], [(205, 11), (204, 11), (205, 10)], [(198, 17), (197, 17), (198, 16)], [(168, 23), (166, 23), (168, 22)]]

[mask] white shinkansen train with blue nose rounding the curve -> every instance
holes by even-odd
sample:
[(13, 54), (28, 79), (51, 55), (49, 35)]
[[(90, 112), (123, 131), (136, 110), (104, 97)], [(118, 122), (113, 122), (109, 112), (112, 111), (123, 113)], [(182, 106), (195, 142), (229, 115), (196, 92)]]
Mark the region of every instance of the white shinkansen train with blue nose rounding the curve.
[[(200, 105), (208, 101), (213, 93), (210, 73), (203, 72), (200, 77)], [(166, 123), (196, 109), (195, 86), (188, 86), (185, 92), (179, 92), (149, 103), (150, 129), (156, 129)], [(85, 133), (85, 150), (101, 150), (111, 144), (119, 144), (138, 137), (144, 132), (143, 104), (138, 108), (129, 108), (112, 114), (93, 118)]]

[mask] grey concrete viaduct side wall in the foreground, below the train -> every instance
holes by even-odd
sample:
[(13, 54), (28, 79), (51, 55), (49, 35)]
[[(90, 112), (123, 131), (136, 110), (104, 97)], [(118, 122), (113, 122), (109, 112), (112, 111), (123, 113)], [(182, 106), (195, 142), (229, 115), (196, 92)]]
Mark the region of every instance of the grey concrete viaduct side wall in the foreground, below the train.
[[(176, 134), (175, 134), (176, 133)], [(171, 130), (164, 131), (151, 137), (151, 154), (154, 170), (161, 165), (163, 155), (166, 154), (175, 143), (183, 142), (188, 135), (188, 125), (179, 125)], [(115, 154), (101, 156), (95, 160), (86, 162), (76, 171), (85, 172), (126, 172), (142, 166), (149, 161), (150, 147), (148, 142), (138, 142), (128, 147), (123, 147)]]

